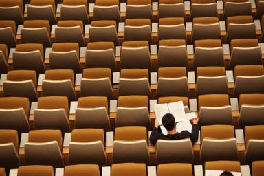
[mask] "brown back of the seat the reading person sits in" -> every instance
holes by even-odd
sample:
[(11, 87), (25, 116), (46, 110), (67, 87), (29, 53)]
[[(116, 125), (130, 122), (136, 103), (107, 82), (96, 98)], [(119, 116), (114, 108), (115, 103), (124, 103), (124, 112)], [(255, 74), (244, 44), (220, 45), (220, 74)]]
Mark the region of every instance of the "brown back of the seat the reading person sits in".
[(157, 140), (157, 164), (164, 163), (190, 163), (193, 164), (194, 155), (190, 139), (183, 140)]

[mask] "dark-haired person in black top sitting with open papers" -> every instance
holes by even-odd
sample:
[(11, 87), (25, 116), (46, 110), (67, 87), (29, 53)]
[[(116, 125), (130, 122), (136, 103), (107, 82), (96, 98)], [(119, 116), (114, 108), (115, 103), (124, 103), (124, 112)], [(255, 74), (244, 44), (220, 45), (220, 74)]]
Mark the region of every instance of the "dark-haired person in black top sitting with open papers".
[(199, 126), (198, 126), (198, 118), (194, 118), (192, 120), (192, 133), (189, 131), (181, 131), (181, 133), (177, 133), (176, 130), (176, 123), (175, 118), (172, 114), (166, 113), (162, 117), (162, 124), (165, 127), (165, 129), (168, 131), (168, 135), (162, 134), (162, 130), (160, 129), (159, 122), (155, 120), (155, 127), (153, 128), (151, 132), (151, 144), (155, 145), (157, 140), (180, 140), (184, 138), (190, 138), (192, 143), (196, 142), (199, 135)]

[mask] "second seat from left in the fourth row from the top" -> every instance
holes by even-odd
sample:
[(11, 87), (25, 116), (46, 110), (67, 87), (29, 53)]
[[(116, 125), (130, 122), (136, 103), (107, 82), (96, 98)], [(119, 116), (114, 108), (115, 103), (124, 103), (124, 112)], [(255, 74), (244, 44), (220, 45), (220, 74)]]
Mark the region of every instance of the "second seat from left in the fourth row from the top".
[(43, 96), (67, 96), (69, 101), (75, 100), (74, 71), (71, 69), (46, 70), (42, 94)]

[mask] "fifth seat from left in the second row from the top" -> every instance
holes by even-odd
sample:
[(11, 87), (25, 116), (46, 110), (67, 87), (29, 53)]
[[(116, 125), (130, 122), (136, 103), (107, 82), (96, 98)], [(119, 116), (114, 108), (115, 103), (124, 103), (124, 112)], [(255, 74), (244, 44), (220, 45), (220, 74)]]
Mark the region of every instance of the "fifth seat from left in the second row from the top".
[(126, 19), (124, 24), (124, 41), (152, 43), (150, 19)]

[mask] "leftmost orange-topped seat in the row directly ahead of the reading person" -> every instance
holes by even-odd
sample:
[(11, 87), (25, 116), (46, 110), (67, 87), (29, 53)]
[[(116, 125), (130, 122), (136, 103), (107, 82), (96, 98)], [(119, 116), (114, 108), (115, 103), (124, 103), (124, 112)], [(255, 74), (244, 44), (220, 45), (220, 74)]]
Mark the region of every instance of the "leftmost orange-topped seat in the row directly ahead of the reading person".
[(19, 133), (30, 130), (28, 115), (30, 102), (25, 97), (0, 98), (0, 129), (16, 129)]

